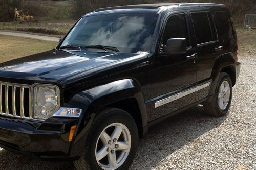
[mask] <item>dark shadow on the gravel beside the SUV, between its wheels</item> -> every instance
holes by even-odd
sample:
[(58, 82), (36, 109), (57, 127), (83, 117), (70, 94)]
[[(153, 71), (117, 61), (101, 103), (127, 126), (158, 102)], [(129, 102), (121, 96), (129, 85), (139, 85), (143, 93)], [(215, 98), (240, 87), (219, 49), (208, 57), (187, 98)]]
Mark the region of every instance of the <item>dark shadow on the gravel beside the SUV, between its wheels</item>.
[[(130, 169), (153, 169), (177, 150), (185, 150), (186, 145), (197, 147), (200, 144), (197, 138), (217, 128), (224, 122), (228, 113), (223, 117), (211, 117), (205, 114), (203, 106), (200, 105), (151, 127), (147, 136), (140, 140)], [(174, 158), (174, 161), (178, 163), (182, 160)]]

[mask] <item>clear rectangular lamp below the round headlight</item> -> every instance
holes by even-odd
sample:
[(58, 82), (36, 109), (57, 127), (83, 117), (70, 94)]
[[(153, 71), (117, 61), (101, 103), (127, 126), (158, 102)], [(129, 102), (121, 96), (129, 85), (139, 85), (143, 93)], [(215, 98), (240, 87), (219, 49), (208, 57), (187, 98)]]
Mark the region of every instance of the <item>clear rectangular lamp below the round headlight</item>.
[(53, 116), (57, 117), (80, 117), (82, 109), (61, 107)]

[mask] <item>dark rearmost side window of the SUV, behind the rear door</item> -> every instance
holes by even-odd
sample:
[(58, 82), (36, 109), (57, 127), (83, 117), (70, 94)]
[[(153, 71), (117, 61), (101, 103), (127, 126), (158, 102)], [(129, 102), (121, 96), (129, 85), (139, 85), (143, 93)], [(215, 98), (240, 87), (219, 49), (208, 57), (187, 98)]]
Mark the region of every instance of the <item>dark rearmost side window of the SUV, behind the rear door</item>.
[(216, 17), (220, 23), (221, 29), (219, 30), (220, 36), (224, 40), (230, 40), (234, 38), (234, 32), (232, 28), (232, 23), (227, 12), (218, 11), (216, 12)]

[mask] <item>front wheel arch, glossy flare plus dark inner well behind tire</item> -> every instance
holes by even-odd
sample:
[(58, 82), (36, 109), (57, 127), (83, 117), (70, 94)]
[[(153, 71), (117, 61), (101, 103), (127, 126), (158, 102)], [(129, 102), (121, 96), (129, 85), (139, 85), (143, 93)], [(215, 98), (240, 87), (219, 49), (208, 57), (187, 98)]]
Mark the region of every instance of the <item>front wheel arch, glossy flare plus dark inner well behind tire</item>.
[(70, 155), (80, 155), (81, 143), (86, 141), (86, 134), (95, 116), (101, 109), (115, 107), (129, 113), (135, 120), (140, 137), (147, 127), (147, 112), (140, 85), (133, 79), (123, 79), (100, 85), (76, 94), (67, 106), (80, 106), (83, 115), (74, 135)]

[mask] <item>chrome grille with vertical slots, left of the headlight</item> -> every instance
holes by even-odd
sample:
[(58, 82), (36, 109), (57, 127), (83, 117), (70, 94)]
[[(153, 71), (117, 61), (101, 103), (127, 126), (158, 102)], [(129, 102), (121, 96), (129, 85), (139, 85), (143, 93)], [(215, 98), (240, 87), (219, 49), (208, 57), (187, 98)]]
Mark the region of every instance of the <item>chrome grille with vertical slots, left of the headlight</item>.
[(31, 119), (31, 86), (0, 82), (0, 115)]

